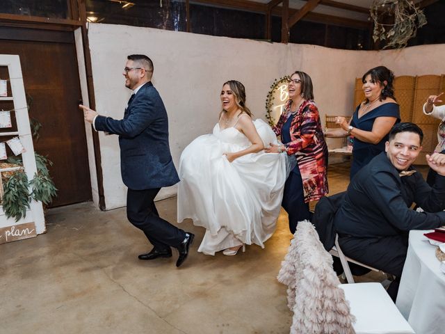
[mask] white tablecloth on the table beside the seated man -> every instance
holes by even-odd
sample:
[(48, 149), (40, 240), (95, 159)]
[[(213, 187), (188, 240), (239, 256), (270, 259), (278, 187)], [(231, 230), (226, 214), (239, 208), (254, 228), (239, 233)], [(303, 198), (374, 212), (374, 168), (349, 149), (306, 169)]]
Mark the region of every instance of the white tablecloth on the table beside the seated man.
[(396, 306), (417, 334), (444, 334), (445, 273), (426, 232), (410, 231)]

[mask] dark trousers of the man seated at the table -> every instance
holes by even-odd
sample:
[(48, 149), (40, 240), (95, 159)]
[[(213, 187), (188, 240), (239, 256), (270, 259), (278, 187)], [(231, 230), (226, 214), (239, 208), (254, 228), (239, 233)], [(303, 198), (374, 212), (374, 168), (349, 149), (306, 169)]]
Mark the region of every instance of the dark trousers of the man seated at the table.
[(408, 250), (408, 234), (374, 238), (339, 234), (339, 245), (348, 257), (396, 276), (387, 289), (395, 302)]

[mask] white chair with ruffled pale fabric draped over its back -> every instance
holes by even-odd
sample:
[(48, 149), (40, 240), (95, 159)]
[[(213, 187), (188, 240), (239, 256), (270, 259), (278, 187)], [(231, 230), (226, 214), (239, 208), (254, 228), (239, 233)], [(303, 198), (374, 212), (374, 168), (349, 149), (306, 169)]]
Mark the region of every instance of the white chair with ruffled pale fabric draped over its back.
[[(309, 221), (298, 223), (278, 279), (289, 286), (288, 300), (293, 299), (289, 303), (294, 313), (291, 333), (327, 333), (321, 328), (341, 324), (337, 317), (346, 312), (355, 317), (352, 327), (357, 334), (414, 334), (380, 283), (339, 284), (332, 269), (332, 257)], [(333, 299), (339, 312), (332, 310)], [(348, 318), (341, 320), (348, 324)], [(313, 328), (320, 329), (313, 331)], [(339, 333), (346, 330), (350, 333), (347, 327)]]

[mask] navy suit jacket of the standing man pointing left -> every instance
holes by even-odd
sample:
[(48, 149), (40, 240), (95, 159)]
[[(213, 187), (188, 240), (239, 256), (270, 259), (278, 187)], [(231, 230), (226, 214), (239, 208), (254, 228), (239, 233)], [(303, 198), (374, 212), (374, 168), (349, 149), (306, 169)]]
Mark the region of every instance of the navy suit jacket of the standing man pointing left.
[(151, 82), (129, 102), (123, 120), (97, 116), (95, 128), (119, 135), (122, 180), (129, 189), (155, 189), (179, 182), (168, 145), (167, 112)]

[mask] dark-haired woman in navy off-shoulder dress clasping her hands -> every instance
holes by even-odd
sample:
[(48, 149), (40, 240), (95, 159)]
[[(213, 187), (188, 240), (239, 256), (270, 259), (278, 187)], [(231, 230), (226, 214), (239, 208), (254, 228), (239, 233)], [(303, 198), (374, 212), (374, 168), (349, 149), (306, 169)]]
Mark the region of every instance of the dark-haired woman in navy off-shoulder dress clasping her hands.
[(331, 138), (354, 137), (351, 180), (360, 168), (385, 151), (389, 130), (401, 121), (393, 81), (394, 73), (387, 67), (371, 68), (362, 77), (365, 100), (357, 106), (350, 122), (339, 116), (336, 123), (341, 128), (325, 133), (326, 137)]

